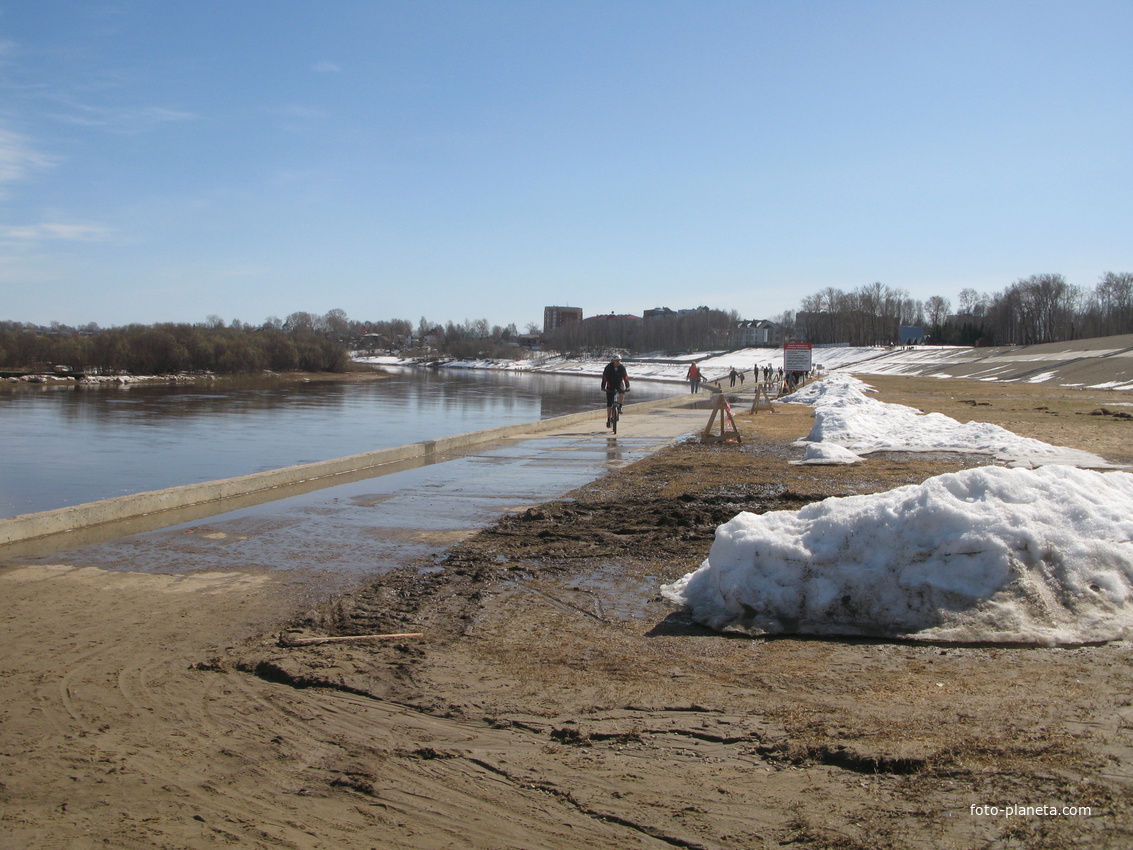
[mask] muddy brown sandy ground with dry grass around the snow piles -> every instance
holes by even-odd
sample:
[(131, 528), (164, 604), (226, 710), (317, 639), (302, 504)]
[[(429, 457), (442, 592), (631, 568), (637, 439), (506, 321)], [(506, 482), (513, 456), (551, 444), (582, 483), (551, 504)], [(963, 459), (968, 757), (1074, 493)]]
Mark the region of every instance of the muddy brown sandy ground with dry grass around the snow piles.
[[(870, 383), (1133, 462), (1128, 394)], [(1127, 644), (738, 639), (661, 600), (739, 510), (987, 462), (791, 466), (809, 409), (739, 425), (314, 606), (300, 571), (0, 566), (0, 845), (1133, 844)], [(373, 632), (424, 637), (281, 645)]]

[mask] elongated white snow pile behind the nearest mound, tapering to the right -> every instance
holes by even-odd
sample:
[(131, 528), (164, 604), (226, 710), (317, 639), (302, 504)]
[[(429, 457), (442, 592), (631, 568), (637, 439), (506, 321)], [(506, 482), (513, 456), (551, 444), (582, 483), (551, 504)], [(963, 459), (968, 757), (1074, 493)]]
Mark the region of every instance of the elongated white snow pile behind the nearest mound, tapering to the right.
[(875, 451), (957, 451), (990, 454), (1019, 466), (1066, 464), (1111, 468), (1097, 454), (1019, 436), (998, 425), (960, 423), (943, 414), (925, 414), (866, 396), (868, 385), (850, 375), (830, 375), (784, 397), (815, 407), (815, 425), (796, 445), (835, 443), (857, 454)]

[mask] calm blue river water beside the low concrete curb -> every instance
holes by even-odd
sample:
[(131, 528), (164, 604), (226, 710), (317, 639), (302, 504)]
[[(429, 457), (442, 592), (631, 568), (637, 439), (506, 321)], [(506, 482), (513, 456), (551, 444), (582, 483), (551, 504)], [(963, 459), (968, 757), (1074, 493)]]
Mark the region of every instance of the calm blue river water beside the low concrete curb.
[[(632, 400), (683, 383), (638, 381)], [(605, 403), (598, 379), (397, 369), (363, 383), (18, 386), (0, 392), (0, 516), (230, 478)]]

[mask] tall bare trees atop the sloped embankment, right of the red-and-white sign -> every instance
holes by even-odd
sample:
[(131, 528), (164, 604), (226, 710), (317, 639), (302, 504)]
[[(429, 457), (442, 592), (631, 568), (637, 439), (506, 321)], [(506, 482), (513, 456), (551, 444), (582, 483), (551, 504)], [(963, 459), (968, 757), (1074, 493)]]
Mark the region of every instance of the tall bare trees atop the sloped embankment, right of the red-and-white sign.
[(940, 345), (1034, 345), (1133, 333), (1133, 273), (1106, 272), (1092, 289), (1062, 274), (1032, 274), (994, 295), (963, 289), (955, 312), (942, 296), (919, 301), (881, 283), (852, 292), (828, 287), (802, 299), (789, 330), (815, 343), (872, 346), (897, 342), (902, 325), (921, 326), (929, 341)]

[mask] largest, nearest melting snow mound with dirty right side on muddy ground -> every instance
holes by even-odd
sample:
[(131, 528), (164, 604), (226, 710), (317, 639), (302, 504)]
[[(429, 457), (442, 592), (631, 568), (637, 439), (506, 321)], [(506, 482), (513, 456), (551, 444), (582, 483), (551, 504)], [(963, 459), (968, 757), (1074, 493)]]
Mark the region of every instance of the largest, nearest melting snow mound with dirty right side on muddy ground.
[(1080, 644), (1133, 630), (1133, 475), (981, 467), (740, 513), (662, 587), (749, 635)]

